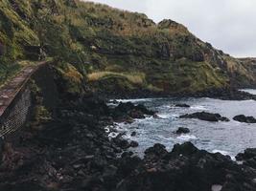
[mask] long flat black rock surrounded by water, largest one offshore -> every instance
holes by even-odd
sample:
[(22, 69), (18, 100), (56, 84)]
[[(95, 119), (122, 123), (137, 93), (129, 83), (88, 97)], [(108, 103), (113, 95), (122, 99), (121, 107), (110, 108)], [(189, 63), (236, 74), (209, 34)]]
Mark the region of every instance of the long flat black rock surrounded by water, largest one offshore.
[(211, 114), (207, 112), (197, 112), (194, 114), (186, 114), (180, 118), (198, 118), (200, 120), (218, 122), (218, 121), (229, 121), (227, 117), (221, 117), (220, 114)]

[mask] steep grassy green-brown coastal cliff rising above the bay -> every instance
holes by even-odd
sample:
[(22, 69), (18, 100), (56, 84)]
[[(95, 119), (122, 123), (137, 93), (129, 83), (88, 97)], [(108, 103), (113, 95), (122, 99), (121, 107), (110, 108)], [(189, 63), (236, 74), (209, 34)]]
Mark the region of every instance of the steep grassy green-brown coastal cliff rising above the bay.
[(3, 0), (0, 17), (1, 74), (17, 70), (16, 60), (55, 57), (76, 94), (84, 84), (91, 92), (123, 96), (256, 82), (251, 60), (216, 50), (172, 20), (155, 24), (145, 14), (78, 0)]

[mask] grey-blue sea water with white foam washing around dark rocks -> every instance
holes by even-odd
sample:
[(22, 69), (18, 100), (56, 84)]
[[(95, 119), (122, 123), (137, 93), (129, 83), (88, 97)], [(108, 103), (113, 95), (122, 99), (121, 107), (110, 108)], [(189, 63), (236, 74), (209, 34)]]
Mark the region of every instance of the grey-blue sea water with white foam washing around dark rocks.
[[(256, 95), (256, 90), (244, 90)], [(234, 158), (246, 148), (256, 147), (256, 124), (240, 123), (232, 118), (237, 115), (256, 117), (256, 101), (220, 100), (213, 98), (146, 98), (119, 100), (123, 102), (143, 103), (151, 110), (158, 111), (159, 118), (137, 119), (132, 124), (118, 124), (119, 132), (126, 132), (124, 138), (139, 142), (139, 147), (132, 149), (143, 156), (145, 149), (154, 143), (164, 144), (172, 150), (175, 143), (193, 142), (199, 149), (212, 153), (220, 152)], [(175, 104), (186, 103), (191, 108), (177, 108)], [(195, 112), (219, 113), (228, 117), (230, 122), (208, 122), (191, 118), (179, 118)], [(178, 127), (191, 130), (187, 135), (176, 135)], [(135, 137), (130, 137), (132, 132)], [(111, 135), (112, 136), (112, 135)]]

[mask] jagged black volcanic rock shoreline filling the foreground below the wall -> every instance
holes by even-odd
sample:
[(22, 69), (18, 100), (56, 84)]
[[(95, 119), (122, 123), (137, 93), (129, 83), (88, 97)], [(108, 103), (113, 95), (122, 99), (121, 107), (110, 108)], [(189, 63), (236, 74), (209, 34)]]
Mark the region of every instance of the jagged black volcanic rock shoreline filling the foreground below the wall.
[(241, 164), (190, 142), (170, 153), (155, 144), (140, 159), (127, 150), (131, 142), (105, 133), (114, 121), (154, 114), (143, 105), (109, 108), (94, 98), (62, 105), (51, 121), (31, 125), (18, 142), (5, 144), (0, 190), (255, 190), (252, 149), (238, 155)]

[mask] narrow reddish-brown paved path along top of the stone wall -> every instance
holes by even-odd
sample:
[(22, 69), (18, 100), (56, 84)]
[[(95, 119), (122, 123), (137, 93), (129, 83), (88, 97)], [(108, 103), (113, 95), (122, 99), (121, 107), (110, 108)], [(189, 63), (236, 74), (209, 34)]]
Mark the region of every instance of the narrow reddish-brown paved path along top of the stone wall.
[(37, 65), (23, 68), (18, 74), (12, 78), (6, 85), (0, 88), (0, 117), (5, 113), (12, 100), (19, 91), (26, 85), (32, 74), (47, 62), (39, 62)]

